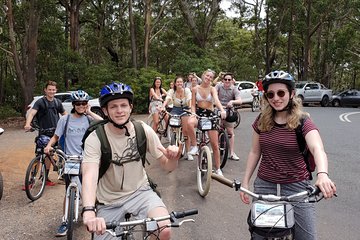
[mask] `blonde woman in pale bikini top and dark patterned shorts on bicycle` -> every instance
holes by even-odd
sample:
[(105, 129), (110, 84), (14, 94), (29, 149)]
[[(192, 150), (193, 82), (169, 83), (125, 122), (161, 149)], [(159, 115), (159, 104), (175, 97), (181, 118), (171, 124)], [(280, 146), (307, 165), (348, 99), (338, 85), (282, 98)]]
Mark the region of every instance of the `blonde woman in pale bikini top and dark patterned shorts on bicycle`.
[[(211, 116), (215, 106), (220, 109), (221, 111), (221, 118), (226, 118), (226, 112), (222, 107), (217, 91), (214, 87), (211, 86), (211, 82), (213, 81), (215, 76), (215, 72), (208, 69), (202, 74), (202, 82), (200, 85), (194, 87), (192, 89), (192, 97), (191, 97), (191, 112), (195, 113), (196, 107), (196, 114), (200, 116)], [(195, 116), (191, 116), (189, 118), (189, 128), (194, 129), (197, 127), (198, 121)], [(219, 151), (219, 143), (218, 143), (218, 132), (217, 130), (210, 130), (208, 131), (211, 148), (213, 150), (213, 155), (215, 159), (215, 167), (216, 167), (216, 174), (222, 175), (220, 169), (220, 151)], [(195, 155), (198, 152), (198, 147), (196, 145), (196, 137), (194, 131), (189, 131), (190, 137), (190, 151), (188, 155)]]

